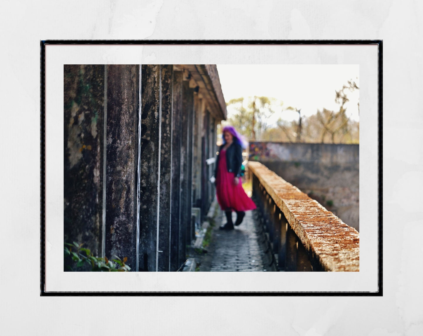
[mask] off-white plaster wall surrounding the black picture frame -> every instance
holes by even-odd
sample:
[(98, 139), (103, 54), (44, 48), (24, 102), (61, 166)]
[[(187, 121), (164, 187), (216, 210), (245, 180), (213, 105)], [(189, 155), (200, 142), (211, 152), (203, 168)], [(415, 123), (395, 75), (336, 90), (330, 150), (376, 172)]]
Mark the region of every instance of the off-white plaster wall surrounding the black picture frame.
[[(1, 11), (4, 333), (422, 334), (422, 245), (412, 238), (423, 235), (423, 69), (418, 43), (423, 4), (235, 0), (212, 6), (201, 1), (128, 6), (116, 1), (15, 1)], [(384, 40), (383, 297), (39, 297), (39, 40), (145, 38)], [(139, 56), (154, 63), (154, 52), (144, 52)], [(343, 57), (313, 52), (304, 48), (296, 59), (338, 62)], [(113, 62), (125, 55), (111, 47), (101, 56)], [(233, 55), (235, 61), (237, 57)], [(61, 113), (59, 109), (58, 117)], [(375, 155), (371, 151), (366, 159)], [(46, 164), (52, 159), (46, 157)], [(48, 240), (46, 244), (46, 251), (56, 248)], [(275, 284), (287, 284), (283, 276)], [(104, 284), (101, 277), (98, 284)]]

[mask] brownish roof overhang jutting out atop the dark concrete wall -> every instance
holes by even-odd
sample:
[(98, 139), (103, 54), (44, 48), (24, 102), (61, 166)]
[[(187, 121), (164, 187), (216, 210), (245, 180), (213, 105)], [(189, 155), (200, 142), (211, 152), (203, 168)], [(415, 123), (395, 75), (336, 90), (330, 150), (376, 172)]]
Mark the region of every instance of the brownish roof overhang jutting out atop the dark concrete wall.
[(226, 120), (226, 103), (215, 64), (174, 64), (173, 69), (183, 71), (183, 78), (190, 81), (190, 87), (198, 88), (198, 96), (206, 100), (217, 122)]

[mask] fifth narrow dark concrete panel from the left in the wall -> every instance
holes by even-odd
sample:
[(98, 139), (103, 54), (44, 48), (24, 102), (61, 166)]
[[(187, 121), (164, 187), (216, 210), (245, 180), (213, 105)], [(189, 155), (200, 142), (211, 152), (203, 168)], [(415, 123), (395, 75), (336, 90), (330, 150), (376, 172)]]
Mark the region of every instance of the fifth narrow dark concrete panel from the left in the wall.
[(170, 190), (170, 270), (176, 271), (184, 262), (185, 248), (181, 241), (181, 119), (182, 72), (173, 72), (172, 103), (172, 188)]

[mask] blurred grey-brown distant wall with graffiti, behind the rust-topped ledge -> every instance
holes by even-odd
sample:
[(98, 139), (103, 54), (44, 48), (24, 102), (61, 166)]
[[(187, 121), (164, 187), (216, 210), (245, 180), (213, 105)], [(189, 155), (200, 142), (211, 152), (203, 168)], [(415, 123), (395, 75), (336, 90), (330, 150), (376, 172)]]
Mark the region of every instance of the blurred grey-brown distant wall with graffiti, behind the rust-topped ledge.
[(359, 145), (251, 142), (259, 161), (359, 229)]

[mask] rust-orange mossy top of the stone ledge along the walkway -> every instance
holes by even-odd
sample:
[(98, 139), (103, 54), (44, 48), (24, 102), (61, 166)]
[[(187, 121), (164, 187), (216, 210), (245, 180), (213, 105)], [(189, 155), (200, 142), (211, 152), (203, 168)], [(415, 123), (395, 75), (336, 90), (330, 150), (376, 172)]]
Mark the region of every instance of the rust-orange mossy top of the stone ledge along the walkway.
[(250, 161), (248, 168), (323, 270), (359, 271), (360, 236), (356, 229), (260, 162)]

